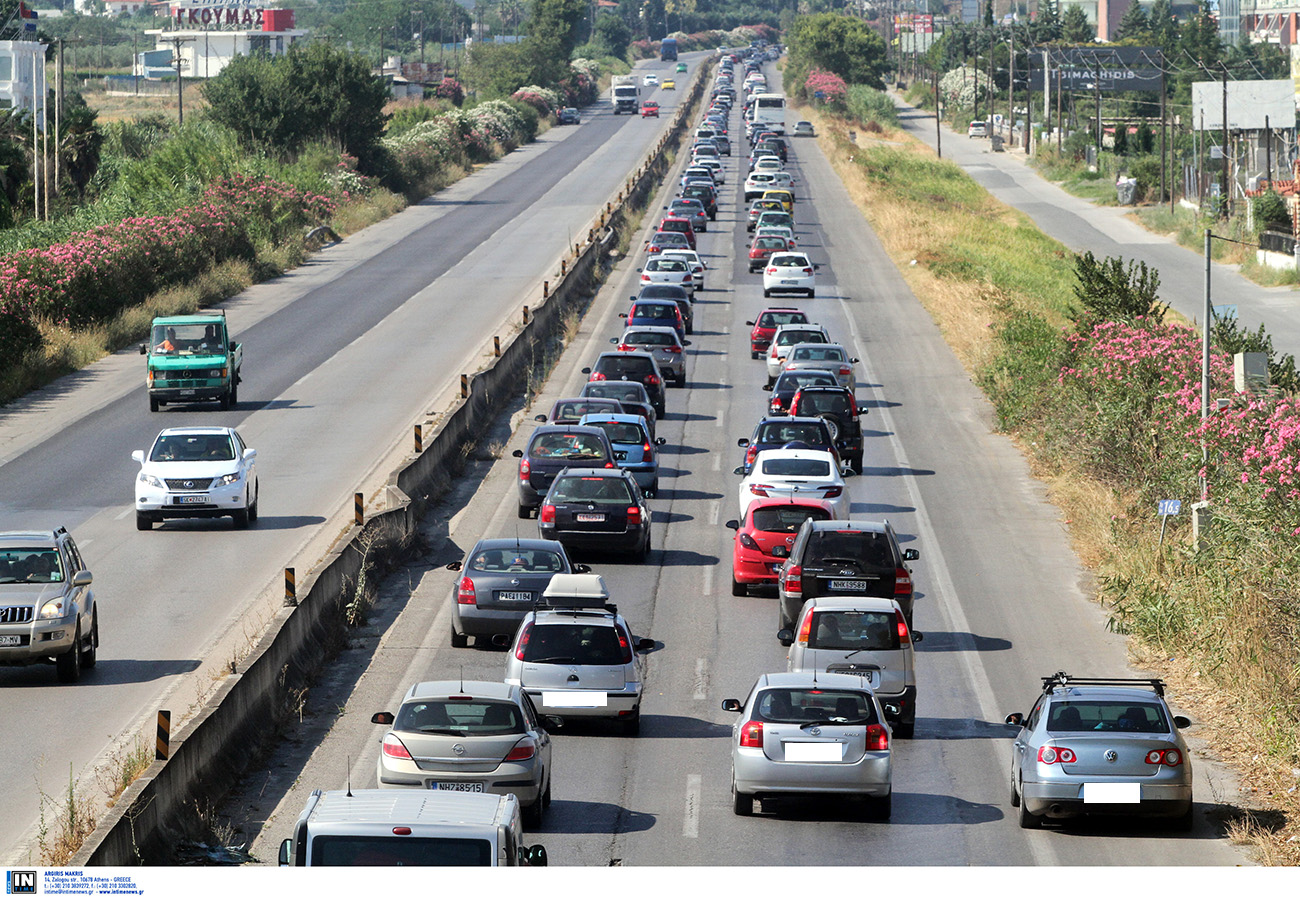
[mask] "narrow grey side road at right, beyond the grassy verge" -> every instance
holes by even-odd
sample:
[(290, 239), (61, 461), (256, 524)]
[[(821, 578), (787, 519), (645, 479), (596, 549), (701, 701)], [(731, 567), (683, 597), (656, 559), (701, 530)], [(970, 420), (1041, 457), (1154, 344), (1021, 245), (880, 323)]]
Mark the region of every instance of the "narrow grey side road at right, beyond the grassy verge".
[[(898, 120), (913, 136), (935, 146), (935, 116), (918, 109), (896, 94)], [(1043, 233), (1075, 252), (1092, 251), (1097, 257), (1122, 256), (1145, 261), (1160, 272), (1161, 299), (1188, 320), (1204, 318), (1205, 259), (1154, 234), (1128, 217), (1122, 207), (1093, 205), (1043, 179), (1027, 164), (1023, 152), (992, 152), (988, 140), (968, 139), (944, 129), (944, 159), (963, 168), (982, 187), (1011, 208), (1030, 216)], [(1213, 264), (1210, 300), (1236, 306), (1240, 322), (1273, 337), (1279, 352), (1300, 354), (1300, 292), (1291, 287), (1264, 287), (1238, 274), (1231, 265)]]

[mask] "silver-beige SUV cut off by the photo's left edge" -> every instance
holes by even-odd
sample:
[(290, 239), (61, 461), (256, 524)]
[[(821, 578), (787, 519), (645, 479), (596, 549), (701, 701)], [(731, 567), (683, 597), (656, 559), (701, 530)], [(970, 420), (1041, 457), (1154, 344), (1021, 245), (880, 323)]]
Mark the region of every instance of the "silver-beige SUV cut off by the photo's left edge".
[(53, 663), (75, 682), (95, 666), (99, 604), (68, 530), (0, 533), (0, 664)]

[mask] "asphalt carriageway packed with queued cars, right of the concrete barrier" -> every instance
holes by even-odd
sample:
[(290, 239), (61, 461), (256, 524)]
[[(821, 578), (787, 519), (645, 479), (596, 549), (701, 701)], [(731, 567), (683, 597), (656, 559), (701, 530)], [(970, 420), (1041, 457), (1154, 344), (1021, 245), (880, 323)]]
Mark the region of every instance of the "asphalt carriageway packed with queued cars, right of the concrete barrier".
[[(738, 120), (738, 116), (736, 117)], [(738, 122), (737, 122), (738, 124)], [(744, 146), (742, 143), (738, 146)], [(894, 803), (888, 824), (863, 822), (835, 802), (786, 805), (741, 819), (729, 800), (729, 731), (723, 698), (744, 698), (762, 672), (784, 670), (770, 597), (731, 595), (731, 532), (740, 463), (736, 439), (763, 412), (760, 361), (746, 320), (766, 304), (746, 272), (740, 156), (727, 160), (729, 195), (716, 231), (701, 239), (711, 270), (697, 303), (689, 384), (671, 390), (659, 434), (660, 495), (647, 564), (585, 558), (606, 577), (646, 658), (641, 736), (567, 725), (555, 738), (554, 803), (529, 842), (562, 866), (1209, 866), (1244, 862), (1204, 818), (1231, 793), (1221, 770), (1197, 764), (1197, 822), (1190, 836), (1141, 823), (1026, 832), (1009, 803), (1011, 732), (1039, 677), (1124, 675), (1123, 640), (1086, 597), (1086, 573), (1015, 447), (991, 432), (991, 410), (944, 344), (812, 140), (794, 140), (797, 237), (822, 264), (815, 312), (862, 359), (864, 474), (853, 478), (853, 515), (889, 517), (914, 563), (919, 714), (916, 737), (894, 741)], [(636, 256), (640, 257), (640, 256)], [(636, 261), (620, 266), (562, 359), (538, 407), (573, 395), (589, 364), (620, 332), (618, 311), (634, 291)], [(448, 645), (459, 559), (481, 536), (532, 536), (515, 516), (510, 450), (532, 429), (529, 413), (502, 460), (484, 460), (428, 526), (430, 550), (384, 586), (370, 624), (308, 696), (266, 767), (251, 772), (220, 811), (222, 826), (274, 862), (280, 841), (312, 788), (373, 786), (382, 728), (420, 680), (499, 680), (500, 651)], [(489, 438), (497, 438), (491, 434)], [(1173, 696), (1176, 703), (1176, 694)], [(1191, 729), (1195, 737), (1196, 729)]]

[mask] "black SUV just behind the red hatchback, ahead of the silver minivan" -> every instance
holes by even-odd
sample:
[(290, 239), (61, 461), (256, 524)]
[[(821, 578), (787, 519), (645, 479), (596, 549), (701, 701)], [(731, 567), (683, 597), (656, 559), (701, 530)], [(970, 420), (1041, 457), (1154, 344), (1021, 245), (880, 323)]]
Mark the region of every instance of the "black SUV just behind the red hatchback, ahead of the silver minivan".
[(792, 629), (811, 598), (868, 595), (893, 598), (911, 627), (913, 586), (909, 560), (916, 549), (900, 549), (889, 521), (805, 520), (777, 576), (777, 629)]

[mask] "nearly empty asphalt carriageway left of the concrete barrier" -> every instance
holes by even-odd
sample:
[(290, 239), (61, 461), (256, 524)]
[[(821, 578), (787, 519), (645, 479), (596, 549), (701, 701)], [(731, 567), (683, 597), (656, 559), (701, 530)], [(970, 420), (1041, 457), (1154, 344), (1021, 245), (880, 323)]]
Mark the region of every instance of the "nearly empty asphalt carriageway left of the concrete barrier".
[[(655, 91), (658, 121), (598, 103), (580, 126), (551, 129), (228, 302), (244, 343), (231, 411), (150, 413), (133, 351), (0, 410), (4, 526), (69, 528), (95, 575), (101, 630), (99, 664), (75, 686), (58, 685), (52, 667), (0, 668), (0, 855), (38, 858), (42, 794), (48, 816), (72, 775), (101, 800), (98, 779), (124, 745), (152, 737), (157, 710), (178, 723), (211, 692), (213, 670), (252, 644), (280, 602), (282, 568), (324, 555), (351, 519), (351, 494), (374, 494), (411, 425), (541, 292), (684, 92)], [(135, 530), (130, 452), (182, 425), (238, 426), (257, 448), (254, 529), (199, 520)]]

